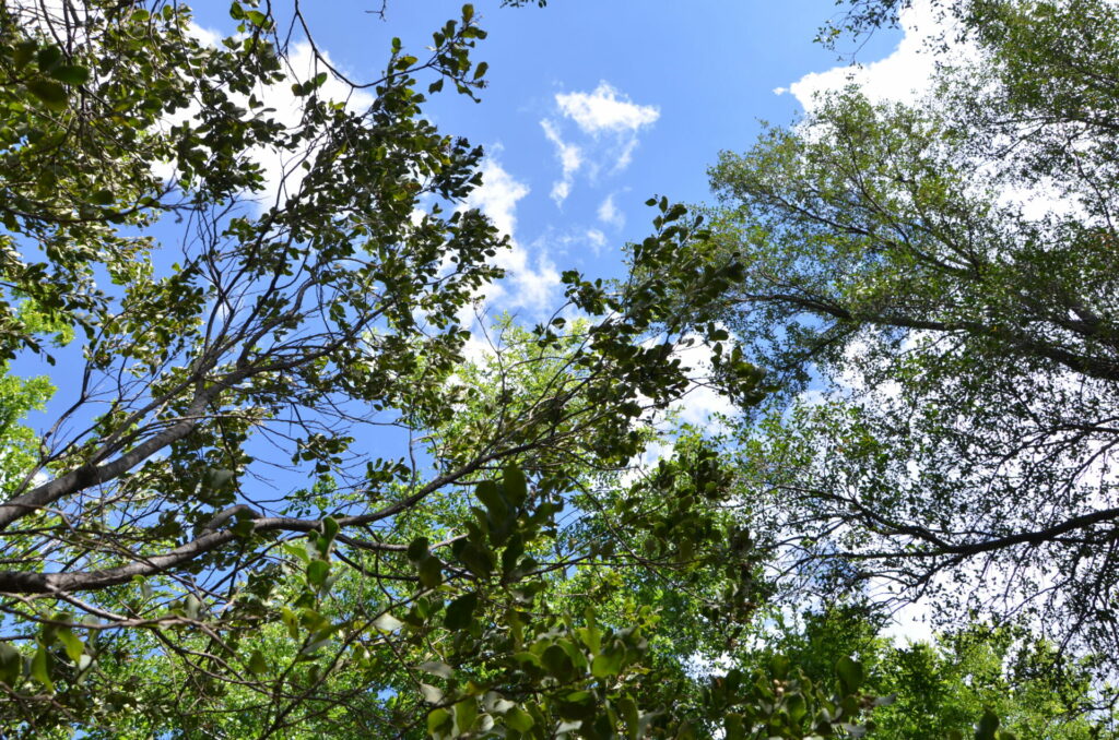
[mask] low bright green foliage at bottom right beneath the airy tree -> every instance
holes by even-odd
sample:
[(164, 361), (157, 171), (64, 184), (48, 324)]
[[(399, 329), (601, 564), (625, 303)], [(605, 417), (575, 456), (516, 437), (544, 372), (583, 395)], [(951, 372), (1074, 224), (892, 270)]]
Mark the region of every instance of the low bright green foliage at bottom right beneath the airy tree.
[(850, 653), (867, 691), (893, 701), (875, 710), (869, 738), (950, 738), (988, 712), (1003, 732), (1025, 739), (1115, 737), (1115, 718), (1096, 704), (1091, 672), (1062, 658), (1028, 632), (971, 624), (930, 642), (896, 645), (873, 606), (834, 604), (796, 618), (777, 614), (760, 647), (739, 660), (764, 664), (783, 655), (814, 679)]

